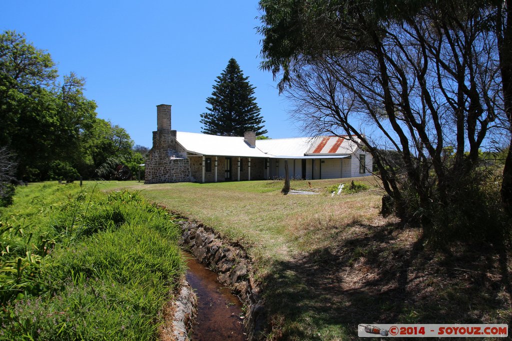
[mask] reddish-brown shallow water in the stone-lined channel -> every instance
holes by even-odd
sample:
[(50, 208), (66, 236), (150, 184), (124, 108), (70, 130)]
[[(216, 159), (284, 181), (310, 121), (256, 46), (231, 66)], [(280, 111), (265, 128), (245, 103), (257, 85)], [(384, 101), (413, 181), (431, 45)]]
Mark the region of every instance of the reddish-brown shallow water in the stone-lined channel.
[(187, 259), (187, 280), (198, 299), (193, 341), (245, 340), (242, 303), (229, 288), (217, 281), (217, 274), (199, 263), (193, 255)]

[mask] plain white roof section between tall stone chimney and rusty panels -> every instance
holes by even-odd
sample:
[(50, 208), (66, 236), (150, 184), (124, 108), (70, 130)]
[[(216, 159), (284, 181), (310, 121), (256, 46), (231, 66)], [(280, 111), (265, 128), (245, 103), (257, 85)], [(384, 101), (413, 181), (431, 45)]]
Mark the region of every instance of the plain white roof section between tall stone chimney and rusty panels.
[(178, 143), (191, 153), (200, 155), (222, 155), (242, 157), (268, 157), (260, 149), (250, 147), (243, 137), (228, 137), (199, 134), (195, 132), (176, 133)]

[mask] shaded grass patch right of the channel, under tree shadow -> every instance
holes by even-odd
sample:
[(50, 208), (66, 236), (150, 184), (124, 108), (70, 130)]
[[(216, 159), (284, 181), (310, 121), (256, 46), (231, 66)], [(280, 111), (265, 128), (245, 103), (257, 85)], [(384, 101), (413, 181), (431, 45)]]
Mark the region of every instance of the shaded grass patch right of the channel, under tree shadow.
[(425, 248), (415, 230), (357, 226), (324, 248), (273, 264), (263, 292), (272, 334), (356, 338), (369, 323), (509, 323), (510, 261), (488, 245)]

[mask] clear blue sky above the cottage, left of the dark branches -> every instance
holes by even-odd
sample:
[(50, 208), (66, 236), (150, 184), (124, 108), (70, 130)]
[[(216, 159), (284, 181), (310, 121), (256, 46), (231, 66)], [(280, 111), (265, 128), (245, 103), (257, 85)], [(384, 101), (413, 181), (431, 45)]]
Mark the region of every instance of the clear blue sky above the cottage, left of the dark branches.
[(2, 31), (25, 33), (57, 62), (59, 75), (86, 78), (98, 117), (151, 147), (156, 105), (171, 104), (173, 129), (201, 132), (200, 114), (233, 57), (249, 82), (271, 138), (296, 137), (272, 75), (259, 69), (257, 1), (4, 0)]

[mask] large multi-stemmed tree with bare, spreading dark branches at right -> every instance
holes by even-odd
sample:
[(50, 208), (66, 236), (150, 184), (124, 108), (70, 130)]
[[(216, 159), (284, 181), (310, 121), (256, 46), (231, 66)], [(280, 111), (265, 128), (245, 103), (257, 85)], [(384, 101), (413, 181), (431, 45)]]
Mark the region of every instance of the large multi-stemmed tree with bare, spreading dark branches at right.
[(356, 137), (404, 220), (430, 226), (442, 208), (467, 209), (476, 221), (468, 201), (479, 192), (479, 150), (507, 133), (495, 8), (451, 0), (260, 7), (262, 68), (294, 100), (297, 119)]

